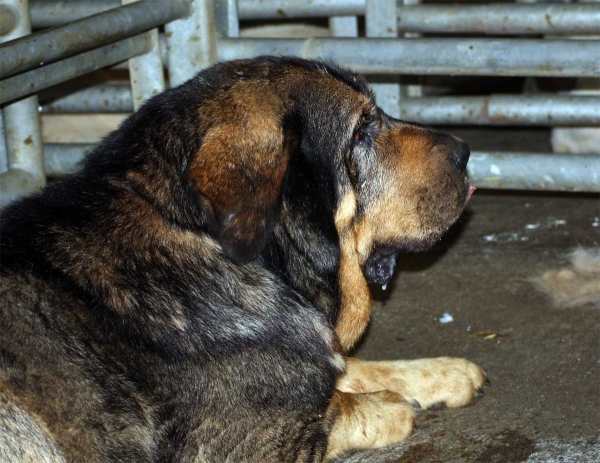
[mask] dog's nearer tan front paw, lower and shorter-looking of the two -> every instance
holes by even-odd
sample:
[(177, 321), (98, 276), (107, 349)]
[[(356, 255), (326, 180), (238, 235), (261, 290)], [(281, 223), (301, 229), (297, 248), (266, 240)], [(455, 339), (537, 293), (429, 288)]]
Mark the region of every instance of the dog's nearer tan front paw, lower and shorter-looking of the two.
[(327, 459), (352, 449), (372, 449), (402, 442), (413, 431), (414, 408), (399, 394), (336, 391), (331, 403), (334, 425)]

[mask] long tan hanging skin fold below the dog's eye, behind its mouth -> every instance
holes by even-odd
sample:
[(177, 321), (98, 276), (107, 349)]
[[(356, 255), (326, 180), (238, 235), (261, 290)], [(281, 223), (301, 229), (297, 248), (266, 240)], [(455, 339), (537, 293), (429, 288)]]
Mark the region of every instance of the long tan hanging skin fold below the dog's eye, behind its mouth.
[(335, 214), (340, 238), (339, 284), (340, 316), (335, 331), (345, 350), (360, 339), (371, 316), (371, 293), (363, 276), (352, 220), (356, 214), (356, 196), (350, 191), (342, 199)]

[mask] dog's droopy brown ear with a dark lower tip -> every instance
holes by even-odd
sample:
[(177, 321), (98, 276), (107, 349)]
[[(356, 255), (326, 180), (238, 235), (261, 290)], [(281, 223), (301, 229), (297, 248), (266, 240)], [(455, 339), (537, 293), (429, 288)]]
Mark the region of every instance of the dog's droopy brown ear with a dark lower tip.
[(232, 114), (203, 137), (189, 179), (236, 262), (254, 260), (273, 230), (290, 149), (281, 118), (260, 109)]

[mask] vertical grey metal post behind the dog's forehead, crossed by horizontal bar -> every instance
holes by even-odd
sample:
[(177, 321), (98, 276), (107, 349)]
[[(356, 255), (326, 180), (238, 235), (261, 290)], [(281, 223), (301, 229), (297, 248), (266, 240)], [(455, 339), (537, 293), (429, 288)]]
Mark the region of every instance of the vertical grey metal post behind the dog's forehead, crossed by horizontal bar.
[[(398, 37), (396, 0), (366, 0), (367, 37)], [(400, 85), (396, 76), (371, 76), (377, 103), (392, 117), (400, 117)]]

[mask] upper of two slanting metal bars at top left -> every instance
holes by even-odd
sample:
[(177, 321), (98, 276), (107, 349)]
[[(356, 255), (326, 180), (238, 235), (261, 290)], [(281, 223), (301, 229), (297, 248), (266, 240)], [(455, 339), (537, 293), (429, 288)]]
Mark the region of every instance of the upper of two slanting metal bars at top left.
[(181, 18), (189, 5), (185, 0), (135, 2), (0, 45), (0, 79)]

